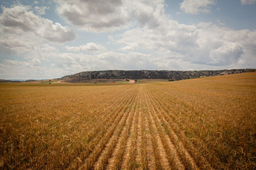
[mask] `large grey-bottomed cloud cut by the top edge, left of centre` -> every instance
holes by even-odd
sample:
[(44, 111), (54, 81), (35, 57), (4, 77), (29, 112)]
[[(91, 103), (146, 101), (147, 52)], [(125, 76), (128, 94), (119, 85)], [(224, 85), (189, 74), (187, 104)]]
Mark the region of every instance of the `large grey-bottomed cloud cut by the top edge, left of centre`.
[(129, 28), (135, 19), (140, 25), (155, 28), (164, 12), (163, 0), (58, 0), (56, 11), (80, 30), (106, 32)]

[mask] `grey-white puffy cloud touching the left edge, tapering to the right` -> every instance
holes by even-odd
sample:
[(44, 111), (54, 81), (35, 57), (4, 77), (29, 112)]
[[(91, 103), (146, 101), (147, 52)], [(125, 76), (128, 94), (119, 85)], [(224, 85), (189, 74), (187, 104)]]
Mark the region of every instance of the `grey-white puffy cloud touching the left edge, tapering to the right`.
[(75, 32), (68, 26), (62, 26), (46, 18), (41, 18), (27, 11), (25, 7), (15, 6), (2, 8), (0, 15), (2, 33), (34, 34), (43, 39), (53, 42), (72, 41), (76, 38)]

